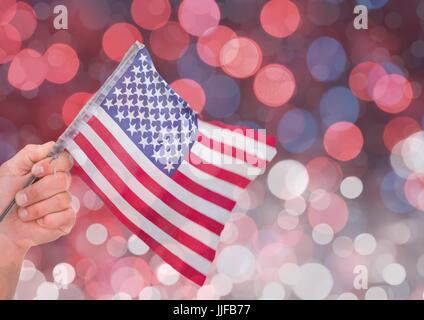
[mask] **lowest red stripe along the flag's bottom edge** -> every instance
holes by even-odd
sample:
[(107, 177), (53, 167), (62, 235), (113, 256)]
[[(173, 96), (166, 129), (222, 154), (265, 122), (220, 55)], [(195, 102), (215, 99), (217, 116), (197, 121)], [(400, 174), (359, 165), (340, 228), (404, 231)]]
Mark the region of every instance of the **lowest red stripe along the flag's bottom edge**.
[(103, 193), (103, 191), (91, 180), (91, 178), (84, 172), (79, 166), (74, 166), (73, 170), (87, 183), (87, 185), (103, 200), (104, 203), (110, 208), (112, 213), (122, 222), (132, 233), (137, 235), (143, 240), (152, 250), (158, 254), (166, 263), (171, 265), (175, 270), (180, 272), (182, 275), (195, 282), (199, 286), (202, 286), (206, 281), (206, 276), (186, 262), (178, 258), (167, 248), (162, 246), (155, 239), (150, 237), (143, 230), (133, 224), (122, 212), (113, 204), (113, 202)]

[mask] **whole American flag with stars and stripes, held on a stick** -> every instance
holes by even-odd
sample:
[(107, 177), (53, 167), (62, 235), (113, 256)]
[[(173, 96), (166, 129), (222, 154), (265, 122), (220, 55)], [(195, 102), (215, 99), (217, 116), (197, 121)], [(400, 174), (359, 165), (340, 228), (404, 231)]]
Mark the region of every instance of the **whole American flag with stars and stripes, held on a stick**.
[(276, 154), (263, 132), (198, 119), (140, 43), (73, 126), (65, 147), (77, 173), (125, 226), (198, 285), (238, 196)]

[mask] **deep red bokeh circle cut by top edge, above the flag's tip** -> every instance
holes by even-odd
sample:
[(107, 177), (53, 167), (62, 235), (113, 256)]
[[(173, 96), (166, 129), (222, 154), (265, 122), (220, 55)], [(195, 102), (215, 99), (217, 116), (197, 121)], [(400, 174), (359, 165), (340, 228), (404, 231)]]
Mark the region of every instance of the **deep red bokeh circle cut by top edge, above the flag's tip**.
[(171, 5), (169, 0), (133, 0), (131, 16), (143, 29), (159, 29), (168, 22)]

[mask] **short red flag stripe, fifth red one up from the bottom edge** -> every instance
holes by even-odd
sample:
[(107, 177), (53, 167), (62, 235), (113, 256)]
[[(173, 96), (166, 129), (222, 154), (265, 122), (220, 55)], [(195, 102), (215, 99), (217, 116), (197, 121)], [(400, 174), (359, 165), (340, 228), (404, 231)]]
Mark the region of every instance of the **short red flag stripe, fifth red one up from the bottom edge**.
[(197, 169), (206, 172), (212, 176), (215, 176), (219, 179), (232, 183), (236, 186), (239, 186), (240, 188), (246, 188), (250, 183), (250, 180), (243, 176), (240, 176), (223, 168), (219, 168), (213, 164), (204, 163), (204, 160), (199, 158), (193, 152), (190, 152), (187, 158), (190, 164), (196, 167)]

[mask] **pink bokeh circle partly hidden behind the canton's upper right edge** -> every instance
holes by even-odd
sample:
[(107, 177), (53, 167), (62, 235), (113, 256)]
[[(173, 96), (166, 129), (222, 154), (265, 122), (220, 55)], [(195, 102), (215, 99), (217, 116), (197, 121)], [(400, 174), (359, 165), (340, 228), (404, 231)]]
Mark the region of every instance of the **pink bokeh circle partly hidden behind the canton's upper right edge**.
[(194, 111), (202, 111), (205, 106), (206, 96), (200, 84), (191, 79), (179, 79), (172, 82), (171, 87), (187, 101)]

